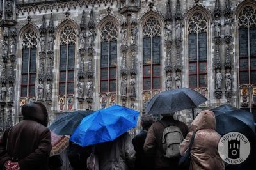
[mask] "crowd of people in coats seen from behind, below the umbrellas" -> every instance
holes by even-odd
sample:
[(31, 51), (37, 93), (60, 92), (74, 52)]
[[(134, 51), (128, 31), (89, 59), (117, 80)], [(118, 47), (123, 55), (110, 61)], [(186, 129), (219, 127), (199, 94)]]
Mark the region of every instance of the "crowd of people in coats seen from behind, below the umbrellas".
[[(51, 166), (54, 159), (60, 162), (60, 157), (50, 158), (51, 132), (47, 128), (45, 105), (40, 102), (23, 105), (21, 113), (24, 120), (8, 128), (0, 139), (0, 169), (60, 169)], [(179, 158), (188, 150), (191, 136), (196, 132), (191, 148), (190, 168), (225, 169), (218, 154), (221, 136), (214, 130), (216, 120), (212, 111), (200, 112), (191, 123), (190, 130), (185, 123), (175, 120), (172, 114), (161, 114), (161, 117), (161, 120), (154, 121), (152, 115), (143, 114), (140, 121), (143, 129), (133, 139), (125, 132), (114, 141), (85, 148), (70, 142), (70, 165), (79, 170), (180, 169)], [(170, 126), (177, 127), (181, 139), (184, 138), (179, 144), (180, 155), (177, 157), (168, 157), (170, 153), (163, 147), (163, 134), (166, 133), (166, 127)], [(93, 160), (92, 167), (88, 166), (92, 163), (88, 158)]]

